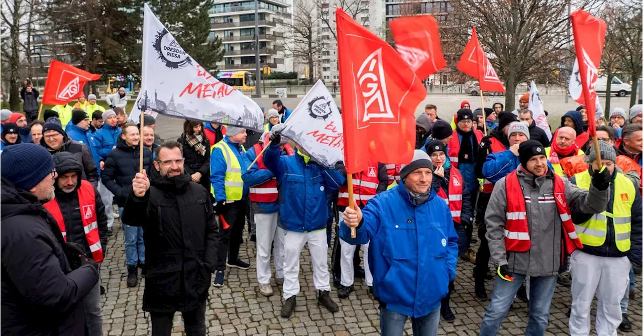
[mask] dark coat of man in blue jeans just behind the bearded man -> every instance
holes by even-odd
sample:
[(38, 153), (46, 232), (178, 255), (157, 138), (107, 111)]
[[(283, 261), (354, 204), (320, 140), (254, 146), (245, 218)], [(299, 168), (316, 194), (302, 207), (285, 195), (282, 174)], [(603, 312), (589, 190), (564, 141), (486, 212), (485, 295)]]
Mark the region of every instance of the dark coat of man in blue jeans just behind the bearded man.
[[(122, 137), (118, 137), (116, 148), (109, 152), (105, 159), (101, 179), (107, 190), (114, 194), (119, 207), (125, 206), (125, 199), (132, 191), (132, 179), (139, 171), (139, 148), (127, 146)], [(143, 148), (143, 169), (148, 172), (152, 165), (152, 152)], [(129, 223), (128, 223), (129, 224)]]

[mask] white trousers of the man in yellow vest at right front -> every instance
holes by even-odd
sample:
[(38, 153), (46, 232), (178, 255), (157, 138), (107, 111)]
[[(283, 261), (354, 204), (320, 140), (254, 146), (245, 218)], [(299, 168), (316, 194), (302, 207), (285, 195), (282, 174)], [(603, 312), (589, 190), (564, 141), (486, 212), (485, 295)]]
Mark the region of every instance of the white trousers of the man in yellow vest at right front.
[(596, 334), (617, 336), (622, 321), (620, 299), (629, 286), (628, 257), (593, 256), (576, 250), (570, 258), (572, 272), (572, 315), (569, 332), (572, 336), (590, 334), (590, 310), (596, 294)]

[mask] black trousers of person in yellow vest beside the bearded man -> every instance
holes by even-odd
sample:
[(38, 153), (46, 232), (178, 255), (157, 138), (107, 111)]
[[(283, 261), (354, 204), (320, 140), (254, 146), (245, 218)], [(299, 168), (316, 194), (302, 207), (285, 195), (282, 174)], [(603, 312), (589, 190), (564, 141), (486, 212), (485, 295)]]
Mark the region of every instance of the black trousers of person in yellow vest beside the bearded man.
[(239, 247), (243, 239), (243, 229), (246, 224), (247, 200), (237, 200), (228, 203), (222, 214), (219, 214), (230, 225), (223, 228), (219, 218), (219, 249), (217, 249), (217, 270), (226, 270), (226, 259), (232, 262), (239, 258)]

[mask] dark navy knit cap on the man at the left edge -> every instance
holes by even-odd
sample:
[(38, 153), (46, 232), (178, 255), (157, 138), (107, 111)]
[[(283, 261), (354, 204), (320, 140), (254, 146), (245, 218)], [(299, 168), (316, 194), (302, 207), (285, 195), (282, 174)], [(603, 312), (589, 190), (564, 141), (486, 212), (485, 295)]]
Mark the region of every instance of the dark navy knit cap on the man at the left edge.
[(48, 150), (34, 143), (8, 146), (0, 155), (0, 176), (11, 181), (19, 190), (31, 190), (53, 168), (55, 165)]

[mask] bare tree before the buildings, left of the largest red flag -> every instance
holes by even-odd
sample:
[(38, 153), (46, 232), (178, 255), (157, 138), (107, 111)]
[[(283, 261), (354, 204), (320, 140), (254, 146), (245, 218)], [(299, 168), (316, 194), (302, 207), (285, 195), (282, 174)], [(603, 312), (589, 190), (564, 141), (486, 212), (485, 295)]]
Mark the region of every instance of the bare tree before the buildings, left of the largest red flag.
[(311, 83), (314, 80), (315, 62), (325, 49), (317, 34), (321, 18), (316, 15), (316, 10), (319, 8), (315, 8), (312, 3), (297, 2), (293, 10), (293, 23), (284, 22), (287, 31), (284, 35), (287, 40), (285, 54), (308, 64), (308, 79)]

